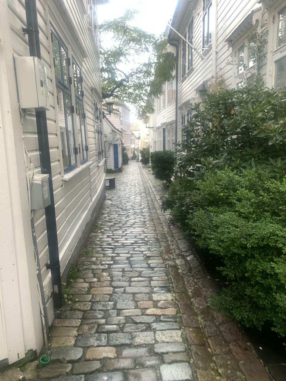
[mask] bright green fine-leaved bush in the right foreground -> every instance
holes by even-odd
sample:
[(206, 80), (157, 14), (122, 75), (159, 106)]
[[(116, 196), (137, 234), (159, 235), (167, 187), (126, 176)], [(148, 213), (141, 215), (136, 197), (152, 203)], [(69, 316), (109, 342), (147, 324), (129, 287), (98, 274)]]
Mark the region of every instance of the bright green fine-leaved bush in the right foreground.
[(214, 171), (190, 197), (191, 232), (222, 259), (230, 283), (212, 304), (247, 327), (270, 322), (286, 335), (286, 180), (262, 171)]

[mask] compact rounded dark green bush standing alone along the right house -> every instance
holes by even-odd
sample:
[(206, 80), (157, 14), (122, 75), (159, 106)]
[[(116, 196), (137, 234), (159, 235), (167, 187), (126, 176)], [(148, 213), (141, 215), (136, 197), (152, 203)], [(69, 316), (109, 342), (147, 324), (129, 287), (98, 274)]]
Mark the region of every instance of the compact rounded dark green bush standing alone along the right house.
[(150, 159), (155, 176), (170, 183), (175, 168), (174, 152), (170, 150), (151, 152)]

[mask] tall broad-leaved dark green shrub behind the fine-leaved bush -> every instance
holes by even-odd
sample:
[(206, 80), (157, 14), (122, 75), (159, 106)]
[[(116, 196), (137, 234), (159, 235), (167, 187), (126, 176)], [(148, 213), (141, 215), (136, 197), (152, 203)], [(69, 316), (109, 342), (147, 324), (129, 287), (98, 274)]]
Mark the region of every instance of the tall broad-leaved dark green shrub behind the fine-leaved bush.
[[(184, 128), (178, 167), (182, 176), (224, 168), (286, 171), (286, 91), (257, 82), (207, 94)], [(196, 172), (196, 173), (195, 173)]]

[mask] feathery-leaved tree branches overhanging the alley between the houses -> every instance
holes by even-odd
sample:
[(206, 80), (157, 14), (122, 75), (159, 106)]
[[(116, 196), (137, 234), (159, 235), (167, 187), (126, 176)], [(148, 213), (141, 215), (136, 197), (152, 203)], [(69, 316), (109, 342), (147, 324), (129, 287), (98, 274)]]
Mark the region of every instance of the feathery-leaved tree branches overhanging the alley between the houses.
[(124, 16), (99, 26), (101, 81), (103, 99), (130, 103), (140, 114), (153, 112), (149, 99), (162, 93), (174, 63), (165, 38), (130, 24), (135, 13), (127, 10)]

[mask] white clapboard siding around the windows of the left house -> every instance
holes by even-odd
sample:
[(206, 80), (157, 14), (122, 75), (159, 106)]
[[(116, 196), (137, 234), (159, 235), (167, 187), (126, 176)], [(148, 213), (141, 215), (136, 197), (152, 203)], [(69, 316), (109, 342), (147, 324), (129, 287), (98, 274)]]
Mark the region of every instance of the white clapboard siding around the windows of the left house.
[[(104, 189), (104, 163), (98, 163), (97, 141), (94, 120), (94, 100), (101, 104), (102, 100), (92, 92), (96, 88), (101, 93), (100, 57), (93, 31), (88, 27), (88, 12), (84, 11), (87, 5), (79, 5), (76, 0), (67, 0), (61, 5), (66, 8), (68, 18), (71, 20), (77, 35), (76, 41), (66, 24), (66, 19), (61, 15), (57, 6), (59, 0), (47, 3), (37, 0), (38, 22), (40, 32), (40, 48), (42, 61), (47, 67), (48, 89), (50, 98), (50, 110), (47, 111), (48, 139), (50, 144), (50, 157), (52, 179), (55, 197), (56, 223), (58, 231), (59, 255), (61, 269), (66, 266), (69, 256), (74, 250), (77, 240), (82, 234), (85, 224), (91, 216), (100, 194)], [(9, 0), (9, 21), (13, 43), (13, 51), (16, 56), (29, 56), (29, 44), (27, 35), (22, 34), (22, 27), (26, 27), (26, 11), (24, 1)], [(51, 68), (48, 19), (56, 32), (71, 49), (73, 58), (82, 70), (84, 108), (86, 114), (86, 132), (88, 142), (88, 157), (92, 160), (73, 179), (63, 181), (64, 173), (61, 168), (58, 128), (56, 125), (56, 110), (54, 103), (54, 83)], [(85, 53), (85, 54), (84, 54)], [(29, 112), (23, 120), (24, 144), (29, 152), (35, 172), (40, 173), (40, 158), (37, 141), (37, 128), (35, 114)], [(72, 173), (71, 173), (72, 174)], [(45, 296), (49, 298), (51, 293), (50, 271), (45, 265), (49, 262), (45, 213), (43, 210), (34, 212), (35, 231), (40, 256), (40, 266), (45, 285)]]

